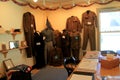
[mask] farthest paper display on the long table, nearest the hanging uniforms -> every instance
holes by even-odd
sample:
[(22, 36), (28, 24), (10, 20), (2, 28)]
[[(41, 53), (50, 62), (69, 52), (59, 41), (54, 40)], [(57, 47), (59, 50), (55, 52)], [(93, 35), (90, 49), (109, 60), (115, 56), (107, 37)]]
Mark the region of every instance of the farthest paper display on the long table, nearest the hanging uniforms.
[(99, 55), (100, 55), (99, 51), (87, 51), (84, 58), (98, 59)]

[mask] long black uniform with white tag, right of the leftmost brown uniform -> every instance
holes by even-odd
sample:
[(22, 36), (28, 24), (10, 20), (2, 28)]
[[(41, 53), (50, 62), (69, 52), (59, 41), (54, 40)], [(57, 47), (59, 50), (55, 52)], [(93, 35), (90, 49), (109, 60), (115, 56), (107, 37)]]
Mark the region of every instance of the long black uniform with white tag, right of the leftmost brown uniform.
[(34, 33), (34, 48), (35, 48), (35, 65), (34, 68), (42, 68), (45, 66), (45, 58), (44, 58), (44, 39), (43, 35), (36, 31)]

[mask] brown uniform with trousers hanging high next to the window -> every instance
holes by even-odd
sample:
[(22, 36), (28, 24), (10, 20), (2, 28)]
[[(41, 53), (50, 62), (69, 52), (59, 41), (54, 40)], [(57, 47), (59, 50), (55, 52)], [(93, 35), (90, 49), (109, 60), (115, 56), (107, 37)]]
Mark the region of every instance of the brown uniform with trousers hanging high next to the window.
[(93, 11), (87, 10), (82, 14), (82, 26), (84, 28), (82, 49), (86, 50), (89, 40), (91, 50), (96, 50), (95, 27), (97, 27), (97, 16)]

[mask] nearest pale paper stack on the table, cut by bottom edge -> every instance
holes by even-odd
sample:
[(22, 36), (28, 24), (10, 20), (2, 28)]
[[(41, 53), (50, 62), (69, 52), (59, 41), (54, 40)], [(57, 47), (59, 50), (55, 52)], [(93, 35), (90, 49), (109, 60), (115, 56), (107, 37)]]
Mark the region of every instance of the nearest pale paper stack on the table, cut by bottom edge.
[(92, 77), (90, 75), (73, 74), (70, 80), (92, 80)]

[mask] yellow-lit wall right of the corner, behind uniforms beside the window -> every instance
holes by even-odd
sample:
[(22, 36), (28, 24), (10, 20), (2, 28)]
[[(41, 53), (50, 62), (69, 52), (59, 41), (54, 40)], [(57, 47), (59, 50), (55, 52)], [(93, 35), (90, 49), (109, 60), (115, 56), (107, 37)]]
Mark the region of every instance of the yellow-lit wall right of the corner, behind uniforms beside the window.
[[(47, 11), (47, 13), (48, 13), (47, 16), (49, 17), (54, 29), (58, 29), (58, 30), (62, 31), (65, 28), (66, 19), (72, 15), (77, 16), (79, 18), (79, 20), (81, 21), (82, 13), (84, 13), (86, 10), (92, 10), (98, 15), (98, 9), (106, 8), (106, 7), (115, 7), (115, 6), (119, 6), (119, 2), (112, 2), (112, 3), (107, 4), (107, 5), (94, 4), (90, 7), (75, 7), (75, 8), (70, 9), (70, 10), (59, 9), (56, 11)], [(99, 25), (96, 28), (97, 50), (99, 50), (98, 30), (99, 30)], [(81, 33), (81, 37), (83, 37), (82, 33)], [(88, 43), (87, 50), (90, 50), (89, 43)]]

